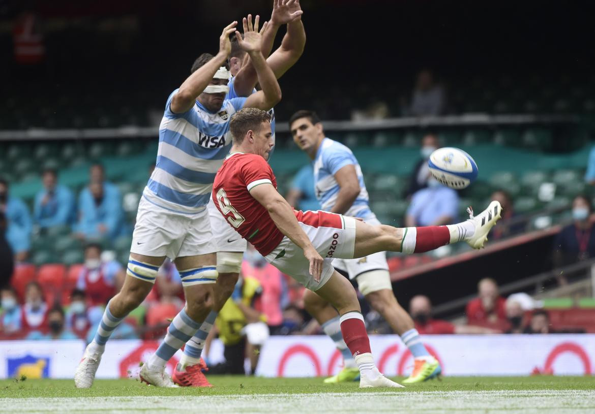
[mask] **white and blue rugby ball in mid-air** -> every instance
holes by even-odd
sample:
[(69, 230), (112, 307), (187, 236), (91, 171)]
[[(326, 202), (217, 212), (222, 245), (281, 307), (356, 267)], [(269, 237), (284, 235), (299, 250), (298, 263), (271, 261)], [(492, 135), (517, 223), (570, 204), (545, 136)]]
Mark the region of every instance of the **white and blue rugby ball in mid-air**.
[(477, 164), (459, 148), (438, 148), (428, 160), (431, 175), (446, 187), (466, 188), (477, 178)]

